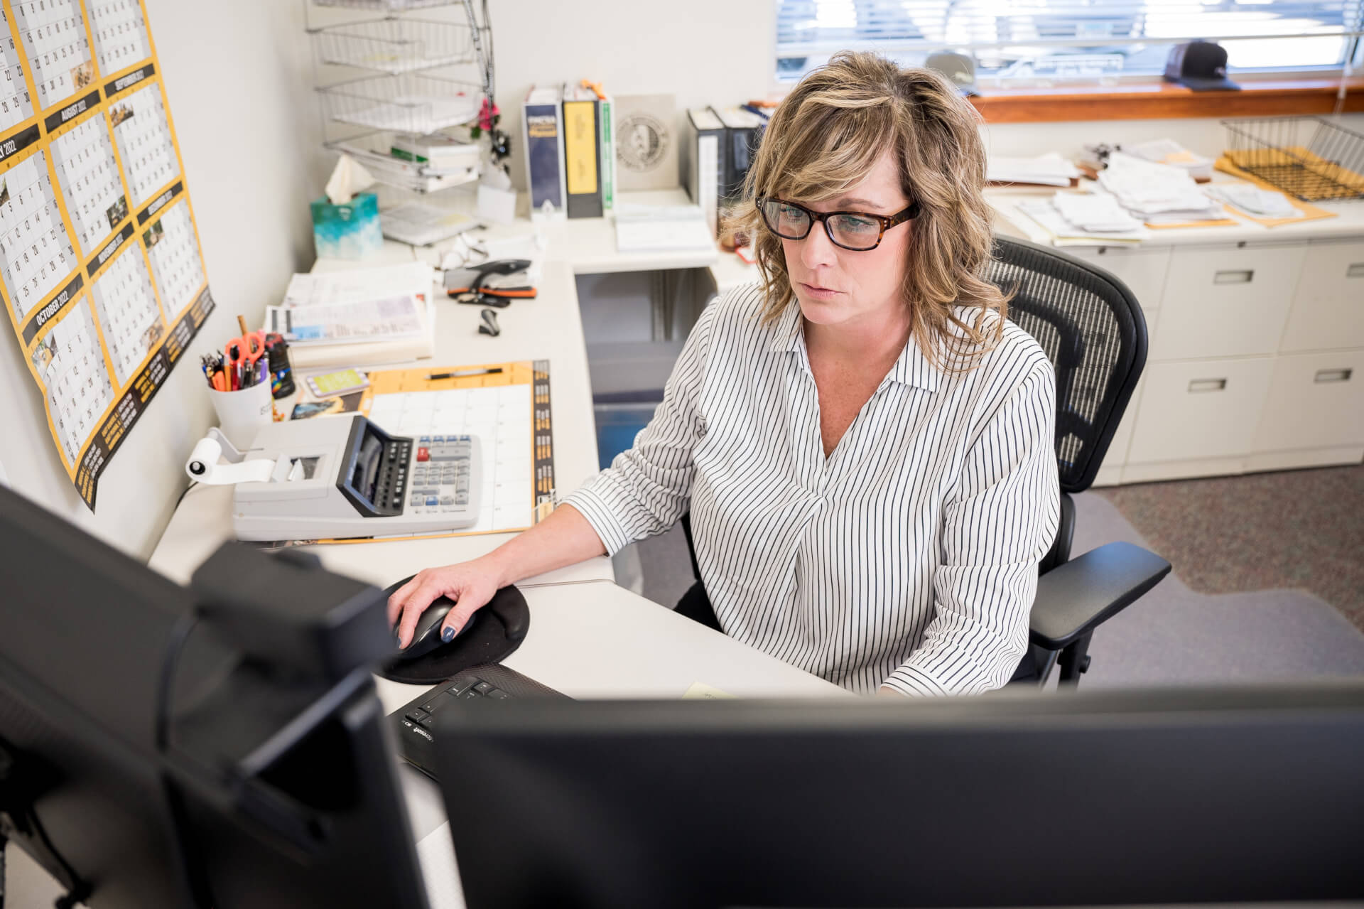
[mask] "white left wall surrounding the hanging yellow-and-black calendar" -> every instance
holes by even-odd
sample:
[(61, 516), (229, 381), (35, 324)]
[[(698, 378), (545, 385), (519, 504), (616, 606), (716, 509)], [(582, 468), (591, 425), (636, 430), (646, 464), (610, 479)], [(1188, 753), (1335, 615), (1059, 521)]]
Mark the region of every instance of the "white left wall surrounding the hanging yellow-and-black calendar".
[(299, 3), (147, 0), (218, 310), (153, 399), (100, 480), (91, 513), (67, 479), (42, 397), (14, 332), (0, 334), (0, 461), (11, 485), (120, 549), (147, 556), (186, 486), (184, 459), (210, 424), (196, 355), (236, 314), (259, 319), (312, 261), (307, 201), (316, 106)]

